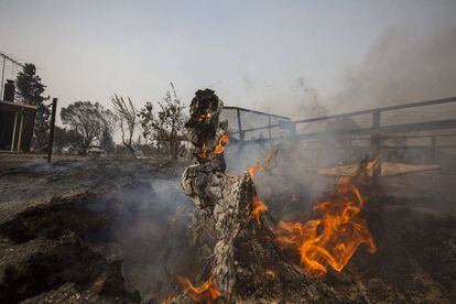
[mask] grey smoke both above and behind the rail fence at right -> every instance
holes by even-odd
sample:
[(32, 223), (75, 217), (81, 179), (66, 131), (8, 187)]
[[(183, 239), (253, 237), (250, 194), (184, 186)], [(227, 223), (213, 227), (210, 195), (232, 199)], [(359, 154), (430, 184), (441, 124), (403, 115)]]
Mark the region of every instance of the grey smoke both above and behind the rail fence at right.
[[(453, 17), (443, 18), (425, 30), (410, 25), (391, 26), (379, 36), (361, 63), (345, 73), (341, 80), (343, 89), (332, 94), (330, 97), (322, 98), (318, 90), (308, 80), (300, 77), (287, 88), (289, 91), (284, 90), (279, 94), (281, 97), (272, 96), (259, 101), (258, 108), (296, 119), (453, 97), (456, 96), (455, 54), (456, 22)], [(386, 113), (382, 116), (382, 123), (442, 119), (446, 115), (453, 115), (454, 118), (455, 113), (455, 105), (427, 107)], [(297, 131), (355, 129), (370, 127), (371, 123), (371, 117), (365, 116), (356, 117), (354, 120), (300, 124), (301, 129)], [(405, 141), (402, 140), (400, 143), (404, 144)], [(423, 142), (414, 144), (423, 144)], [(230, 151), (228, 148), (228, 167), (240, 173), (254, 162), (261, 162), (271, 146), (263, 143), (249, 144), (241, 150), (232, 148)], [(357, 163), (369, 153), (369, 140), (354, 143), (340, 141), (338, 137), (328, 137), (318, 142), (282, 141), (276, 161), (270, 165), (269, 170), (257, 176), (256, 184), (260, 197), (267, 199), (265, 203), (270, 208), (272, 205), (274, 209), (275, 204), (273, 213), (280, 218), (289, 216), (287, 206), (293, 206), (293, 208), (302, 206), (301, 211), (308, 214), (314, 198), (330, 189), (332, 178), (335, 178), (321, 176), (316, 174), (315, 170)], [(408, 163), (417, 160), (419, 163), (422, 163), (423, 160), (426, 161), (428, 151), (400, 151), (401, 155), (394, 160), (390, 152), (384, 151), (383, 153), (383, 156), (389, 158), (390, 161)], [(439, 159), (443, 160), (443, 152), (439, 151)], [(430, 176), (435, 181), (439, 180), (435, 172), (415, 175), (420, 175), (421, 180), (430, 178)], [(399, 182), (395, 177), (388, 180), (409, 185), (409, 182), (414, 178), (413, 176), (410, 178), (408, 176), (401, 177), (402, 180)], [(404, 195), (409, 186), (404, 186), (404, 191), (400, 194)], [(442, 187), (435, 187), (434, 192), (441, 189)], [(298, 203), (294, 203), (294, 200), (298, 200)], [(294, 209), (293, 213), (295, 214), (296, 210)], [(290, 213), (290, 216), (293, 213)]]

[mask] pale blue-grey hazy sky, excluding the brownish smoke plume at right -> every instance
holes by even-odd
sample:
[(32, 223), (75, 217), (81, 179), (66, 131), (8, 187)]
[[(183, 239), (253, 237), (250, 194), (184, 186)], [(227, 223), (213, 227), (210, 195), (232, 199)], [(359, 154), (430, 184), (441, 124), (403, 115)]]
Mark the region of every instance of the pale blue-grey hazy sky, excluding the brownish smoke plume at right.
[(173, 80), (186, 102), (210, 87), (267, 109), (295, 102), (300, 77), (329, 98), (388, 29), (426, 31), (452, 2), (0, 0), (0, 51), (36, 64), (61, 106), (141, 106)]

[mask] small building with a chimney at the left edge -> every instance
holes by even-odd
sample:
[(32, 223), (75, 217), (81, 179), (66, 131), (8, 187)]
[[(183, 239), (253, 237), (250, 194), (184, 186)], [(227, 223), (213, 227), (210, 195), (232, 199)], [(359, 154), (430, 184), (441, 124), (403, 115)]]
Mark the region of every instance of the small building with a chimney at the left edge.
[(33, 137), (36, 107), (14, 101), (14, 85), (4, 85), (0, 99), (0, 151), (29, 152)]

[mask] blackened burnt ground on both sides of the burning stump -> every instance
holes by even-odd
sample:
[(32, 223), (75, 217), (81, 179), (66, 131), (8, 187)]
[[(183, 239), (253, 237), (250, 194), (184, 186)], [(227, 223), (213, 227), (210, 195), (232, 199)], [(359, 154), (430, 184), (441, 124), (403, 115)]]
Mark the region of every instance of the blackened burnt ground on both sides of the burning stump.
[[(180, 188), (185, 165), (57, 158), (48, 166), (0, 155), (0, 303), (160, 303), (182, 292), (175, 275), (192, 278), (197, 267), (187, 237), (193, 205)], [(455, 303), (452, 172), (394, 177), (372, 191), (366, 214), (378, 251), (360, 248), (341, 273), (315, 280), (357, 303)], [(307, 181), (273, 170), (256, 180), (283, 219), (310, 216), (303, 202), (316, 186)]]

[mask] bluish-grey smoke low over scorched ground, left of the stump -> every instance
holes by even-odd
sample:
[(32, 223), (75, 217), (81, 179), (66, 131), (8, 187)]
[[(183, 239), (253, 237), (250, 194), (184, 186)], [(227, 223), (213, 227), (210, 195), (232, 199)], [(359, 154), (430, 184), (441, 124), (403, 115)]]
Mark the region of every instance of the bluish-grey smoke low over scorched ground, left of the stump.
[(193, 203), (180, 186), (183, 167), (171, 163), (166, 172), (122, 170), (122, 178), (132, 182), (98, 202), (98, 213), (108, 210), (112, 221), (90, 237), (109, 260), (122, 260), (131, 291), (140, 291), (144, 301), (160, 301), (173, 293), (177, 274), (187, 275), (195, 267), (187, 236)]

